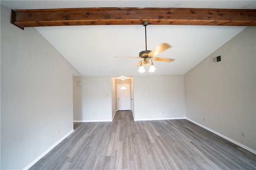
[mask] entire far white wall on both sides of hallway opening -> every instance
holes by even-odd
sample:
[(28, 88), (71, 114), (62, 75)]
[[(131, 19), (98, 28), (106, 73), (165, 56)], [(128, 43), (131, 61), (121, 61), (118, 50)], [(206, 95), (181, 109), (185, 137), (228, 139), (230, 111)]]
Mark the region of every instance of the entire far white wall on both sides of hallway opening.
[[(82, 82), (82, 85), (77, 86), (76, 82)], [(183, 75), (136, 76), (126, 81), (90, 76), (73, 78), (74, 121), (112, 121), (117, 107), (116, 84), (121, 83), (134, 84), (131, 109), (135, 110), (135, 120), (185, 117)], [(145, 90), (147, 94), (144, 94)], [(110, 96), (106, 97), (106, 94)]]

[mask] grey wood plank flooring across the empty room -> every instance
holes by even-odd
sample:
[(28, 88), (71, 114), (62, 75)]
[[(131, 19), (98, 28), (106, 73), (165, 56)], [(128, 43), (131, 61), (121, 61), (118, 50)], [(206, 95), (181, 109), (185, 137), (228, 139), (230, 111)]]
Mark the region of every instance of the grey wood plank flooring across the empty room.
[(186, 120), (74, 123), (74, 132), (31, 170), (256, 169), (256, 155)]

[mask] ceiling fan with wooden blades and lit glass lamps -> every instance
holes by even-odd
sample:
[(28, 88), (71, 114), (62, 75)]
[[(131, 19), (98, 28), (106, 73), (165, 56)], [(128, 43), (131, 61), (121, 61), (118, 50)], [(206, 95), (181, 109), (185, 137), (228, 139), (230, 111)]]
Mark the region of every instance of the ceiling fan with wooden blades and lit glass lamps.
[(142, 24), (145, 27), (145, 40), (146, 40), (146, 50), (141, 51), (139, 53), (139, 57), (116, 57), (116, 58), (134, 58), (134, 59), (143, 59), (142, 61), (139, 61), (135, 66), (140, 65), (139, 72), (145, 72), (144, 65), (148, 66), (150, 65), (148, 72), (154, 72), (156, 70), (153, 61), (163, 61), (163, 62), (172, 62), (175, 59), (167, 59), (167, 58), (160, 58), (155, 57), (156, 55), (162, 53), (166, 49), (170, 48), (171, 46), (166, 43), (162, 43), (161, 45), (158, 45), (153, 51), (147, 50), (147, 32), (146, 32), (146, 26), (148, 25), (148, 21), (144, 21)]

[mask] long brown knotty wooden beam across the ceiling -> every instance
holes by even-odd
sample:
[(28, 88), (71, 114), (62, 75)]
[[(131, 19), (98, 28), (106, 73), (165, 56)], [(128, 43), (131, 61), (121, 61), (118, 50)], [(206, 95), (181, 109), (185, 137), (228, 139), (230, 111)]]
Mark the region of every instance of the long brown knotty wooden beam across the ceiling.
[(12, 10), (11, 23), (24, 27), (64, 25), (256, 26), (256, 10), (203, 8), (66, 8)]

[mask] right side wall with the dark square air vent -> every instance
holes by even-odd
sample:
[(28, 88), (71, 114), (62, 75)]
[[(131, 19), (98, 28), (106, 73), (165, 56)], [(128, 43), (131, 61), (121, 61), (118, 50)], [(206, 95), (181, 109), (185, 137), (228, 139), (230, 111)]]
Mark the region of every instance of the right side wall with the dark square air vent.
[[(219, 55), (222, 61), (212, 64)], [(253, 150), (255, 60), (256, 27), (247, 27), (185, 74), (186, 117)]]

